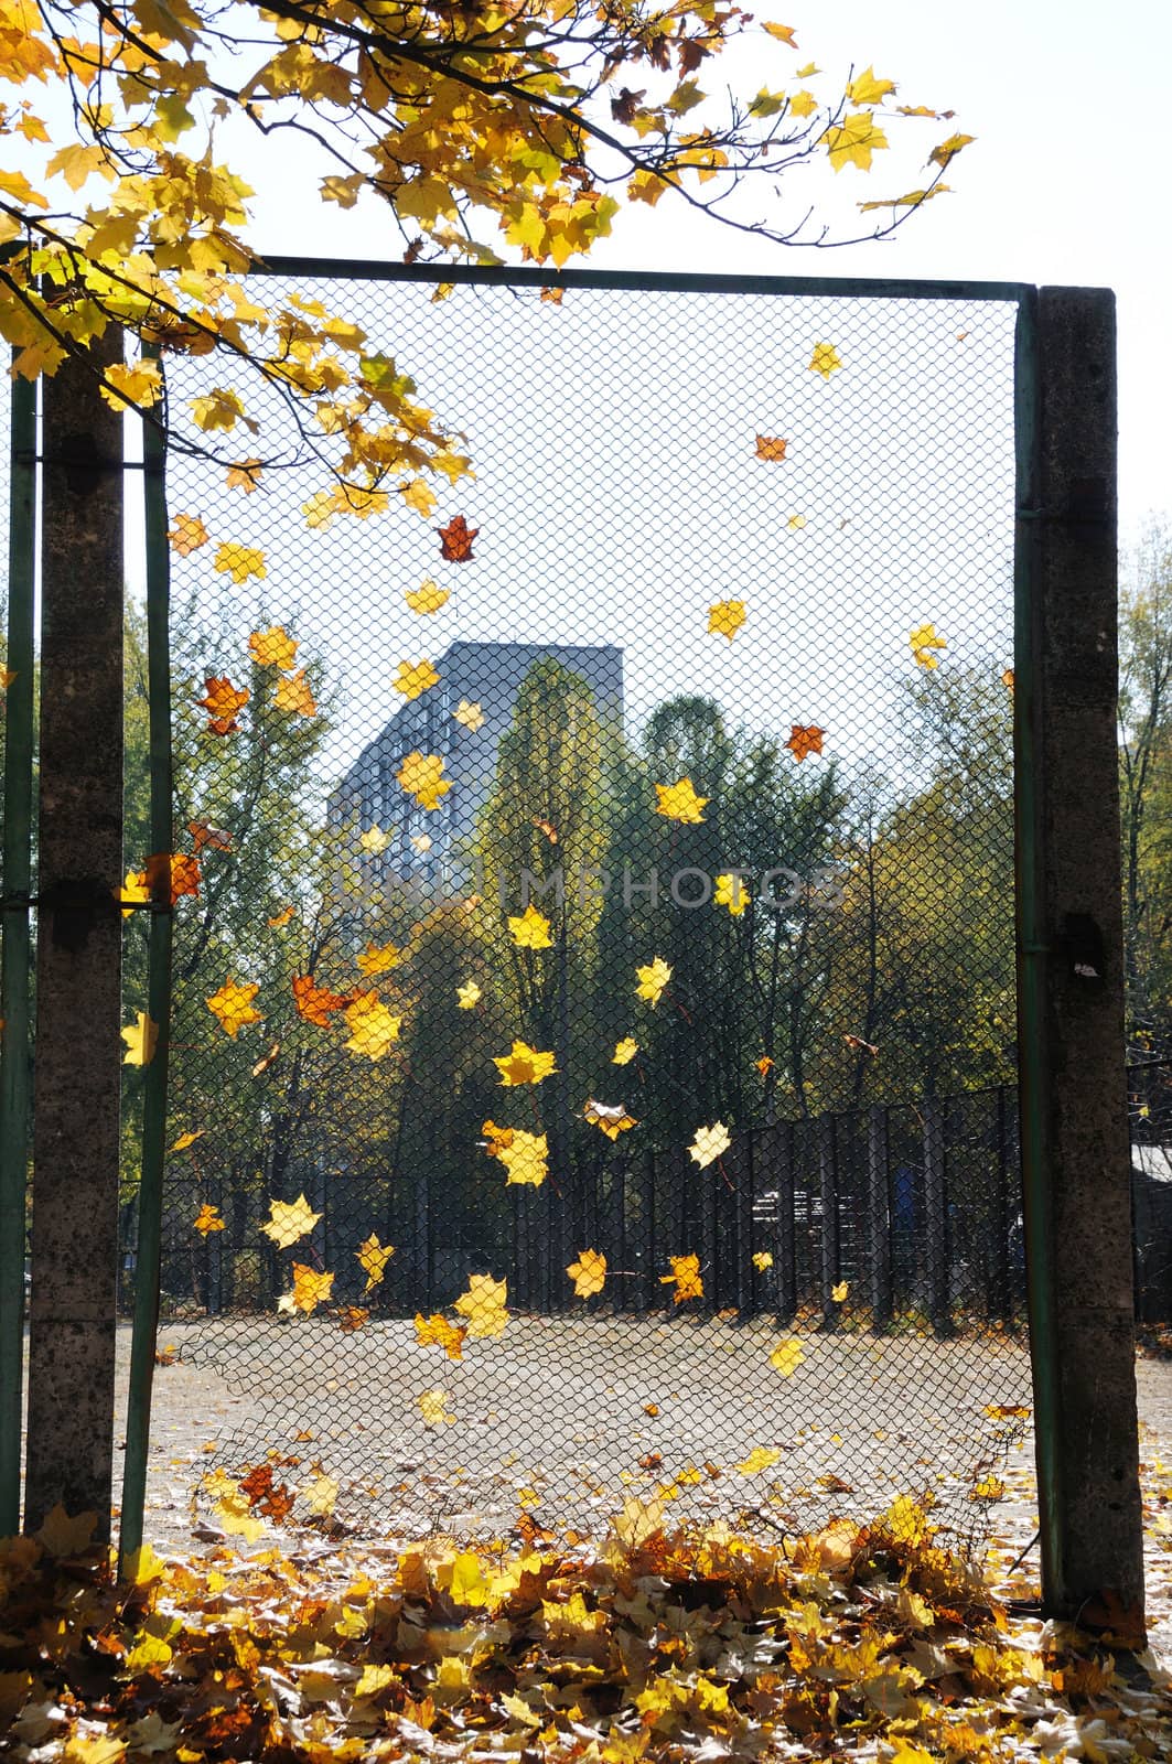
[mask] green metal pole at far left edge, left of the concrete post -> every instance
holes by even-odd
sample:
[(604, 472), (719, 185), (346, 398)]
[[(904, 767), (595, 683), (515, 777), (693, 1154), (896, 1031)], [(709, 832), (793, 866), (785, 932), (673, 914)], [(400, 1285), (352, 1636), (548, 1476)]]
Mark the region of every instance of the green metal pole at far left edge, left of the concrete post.
[(9, 654), (4, 746), (4, 958), (0, 963), (0, 1536), (21, 1522), (25, 1191), (28, 1184), (28, 974), (37, 559), (37, 383), (12, 381)]

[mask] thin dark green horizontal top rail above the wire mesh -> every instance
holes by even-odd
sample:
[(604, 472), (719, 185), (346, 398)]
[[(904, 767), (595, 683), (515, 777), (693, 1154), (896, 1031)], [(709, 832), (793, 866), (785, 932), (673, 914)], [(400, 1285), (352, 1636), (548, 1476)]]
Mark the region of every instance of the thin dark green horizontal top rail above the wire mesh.
[(251, 275), (482, 288), (628, 288), (683, 295), (807, 295), (838, 300), (987, 300), (1020, 305), (1033, 282), (937, 282), (874, 275), (699, 275), (685, 270), (538, 270), (515, 265), (385, 263), (378, 258), (258, 258)]

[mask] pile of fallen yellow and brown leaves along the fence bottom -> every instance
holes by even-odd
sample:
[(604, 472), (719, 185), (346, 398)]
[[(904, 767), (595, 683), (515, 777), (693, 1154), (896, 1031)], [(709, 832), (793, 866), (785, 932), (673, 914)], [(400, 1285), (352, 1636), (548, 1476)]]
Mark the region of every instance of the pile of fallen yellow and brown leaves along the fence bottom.
[[(431, 1392), (443, 1408), (443, 1392)], [(441, 1415), (438, 1413), (438, 1420)], [(256, 1496), (274, 1510), (282, 1487)], [(897, 1501), (787, 1547), (665, 1533), (628, 1501), (600, 1544), (86, 1554), (92, 1515), (0, 1544), (9, 1755), (598, 1760), (1160, 1759), (1168, 1676), (1015, 1619)]]

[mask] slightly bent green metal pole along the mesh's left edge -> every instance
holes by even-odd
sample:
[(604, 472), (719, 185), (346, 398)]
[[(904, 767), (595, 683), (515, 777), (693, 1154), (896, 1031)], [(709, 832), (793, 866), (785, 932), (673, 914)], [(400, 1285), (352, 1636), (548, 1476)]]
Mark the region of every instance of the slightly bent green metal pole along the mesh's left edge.
[[(150, 847), (171, 850), (171, 564), (166, 513), (166, 441), (154, 423), (143, 425), (143, 503), (146, 526), (146, 681), (150, 721)], [(171, 878), (169, 866), (154, 873), (146, 1011), (159, 1027), (155, 1055), (143, 1071), (143, 1168), (138, 1191), (138, 1251), (134, 1258), (134, 1335), (127, 1404), (125, 1462), (118, 1572), (127, 1573), (143, 1542), (150, 1395), (159, 1332), (159, 1258), (162, 1242), (162, 1171), (168, 1124), (168, 1051), (171, 1027)]]

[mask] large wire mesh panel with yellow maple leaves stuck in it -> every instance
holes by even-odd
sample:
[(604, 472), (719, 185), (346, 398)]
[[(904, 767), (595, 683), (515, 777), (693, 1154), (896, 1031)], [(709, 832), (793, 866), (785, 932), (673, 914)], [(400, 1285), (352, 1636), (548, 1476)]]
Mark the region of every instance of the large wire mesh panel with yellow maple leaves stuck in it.
[[(1013, 303), (252, 286), (475, 480), (316, 531), (309, 464), (169, 460), (162, 1314), (252, 1397), (207, 1492), (974, 1538), (1029, 1404)], [(180, 429), (221, 377), (168, 362)]]

